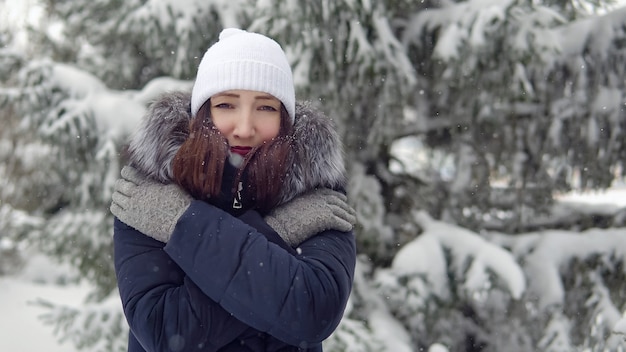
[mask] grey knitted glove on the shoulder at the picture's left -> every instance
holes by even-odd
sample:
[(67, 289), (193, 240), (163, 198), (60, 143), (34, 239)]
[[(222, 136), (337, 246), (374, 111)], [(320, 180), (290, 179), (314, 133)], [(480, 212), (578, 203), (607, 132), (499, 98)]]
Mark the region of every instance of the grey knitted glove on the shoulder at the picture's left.
[(155, 240), (167, 242), (192, 197), (175, 184), (162, 184), (130, 166), (115, 182), (111, 213)]

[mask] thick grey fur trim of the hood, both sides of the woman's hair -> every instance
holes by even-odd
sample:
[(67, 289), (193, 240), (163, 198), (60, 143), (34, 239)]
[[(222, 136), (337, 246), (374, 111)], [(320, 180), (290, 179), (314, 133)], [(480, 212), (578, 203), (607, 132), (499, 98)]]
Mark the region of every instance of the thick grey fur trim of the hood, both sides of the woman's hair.
[[(129, 144), (130, 164), (170, 183), (174, 155), (187, 139), (191, 94), (174, 92), (154, 101)], [(334, 123), (310, 103), (296, 103), (293, 148), (279, 203), (316, 187), (345, 189), (343, 147)]]

